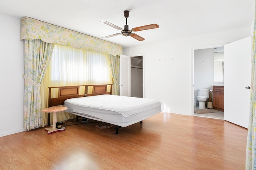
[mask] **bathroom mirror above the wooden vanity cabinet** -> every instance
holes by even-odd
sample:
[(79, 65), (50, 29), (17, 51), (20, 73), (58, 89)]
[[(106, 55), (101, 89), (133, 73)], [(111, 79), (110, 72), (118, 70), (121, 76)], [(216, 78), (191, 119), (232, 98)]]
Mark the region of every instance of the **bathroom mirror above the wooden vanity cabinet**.
[(224, 47), (214, 48), (214, 84), (224, 84)]

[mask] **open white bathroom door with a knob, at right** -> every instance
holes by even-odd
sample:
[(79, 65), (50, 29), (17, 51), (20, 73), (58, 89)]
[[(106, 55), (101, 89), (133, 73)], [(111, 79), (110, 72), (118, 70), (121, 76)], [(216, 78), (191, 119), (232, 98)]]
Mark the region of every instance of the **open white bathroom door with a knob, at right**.
[(248, 129), (251, 37), (224, 45), (224, 119)]

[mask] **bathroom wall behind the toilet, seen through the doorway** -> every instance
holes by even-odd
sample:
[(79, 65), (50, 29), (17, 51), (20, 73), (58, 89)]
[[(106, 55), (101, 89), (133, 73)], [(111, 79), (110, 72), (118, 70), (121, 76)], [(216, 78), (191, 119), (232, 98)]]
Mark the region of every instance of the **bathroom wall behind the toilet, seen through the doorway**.
[[(214, 49), (199, 49), (194, 51), (194, 96), (198, 96), (198, 89), (212, 90), (214, 82)], [(196, 102), (198, 106), (198, 102)]]

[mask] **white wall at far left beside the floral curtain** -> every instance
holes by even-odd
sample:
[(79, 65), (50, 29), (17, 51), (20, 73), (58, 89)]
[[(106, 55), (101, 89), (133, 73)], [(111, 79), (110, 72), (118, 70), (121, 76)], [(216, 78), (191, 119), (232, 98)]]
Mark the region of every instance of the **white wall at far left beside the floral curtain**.
[(20, 18), (0, 14), (0, 137), (24, 131), (24, 43)]

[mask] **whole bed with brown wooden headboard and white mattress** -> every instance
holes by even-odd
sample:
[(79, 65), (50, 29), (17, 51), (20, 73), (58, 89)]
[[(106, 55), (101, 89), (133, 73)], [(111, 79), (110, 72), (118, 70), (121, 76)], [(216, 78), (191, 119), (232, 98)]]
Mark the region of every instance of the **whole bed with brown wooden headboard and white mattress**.
[[(58, 98), (51, 98), (52, 88), (58, 88)], [(66, 112), (77, 116), (116, 125), (120, 127), (134, 123), (161, 112), (161, 103), (154, 99), (111, 95), (111, 84), (49, 88), (49, 104), (60, 103), (68, 107)], [(55, 104), (54, 104), (55, 105)], [(55, 105), (56, 106), (56, 105)]]

